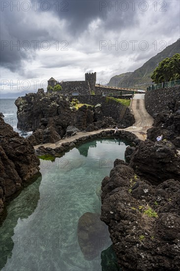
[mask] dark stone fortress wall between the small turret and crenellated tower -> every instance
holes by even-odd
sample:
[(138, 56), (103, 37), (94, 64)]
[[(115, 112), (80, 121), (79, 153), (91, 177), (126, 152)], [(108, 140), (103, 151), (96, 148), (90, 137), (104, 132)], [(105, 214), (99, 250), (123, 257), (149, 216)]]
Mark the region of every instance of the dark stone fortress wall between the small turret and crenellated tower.
[(62, 87), (62, 95), (72, 95), (73, 92), (78, 92), (79, 95), (88, 95), (90, 94), (90, 84), (88, 81), (65, 81), (60, 82)]

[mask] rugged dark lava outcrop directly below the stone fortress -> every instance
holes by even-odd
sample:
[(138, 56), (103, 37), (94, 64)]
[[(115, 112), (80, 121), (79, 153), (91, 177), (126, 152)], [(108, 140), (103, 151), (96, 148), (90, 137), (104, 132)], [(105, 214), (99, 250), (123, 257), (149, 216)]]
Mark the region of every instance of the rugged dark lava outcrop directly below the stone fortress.
[[(60, 140), (66, 134), (68, 126), (91, 132), (100, 128), (114, 127), (120, 121), (124, 128), (134, 123), (128, 107), (120, 103), (117, 103), (119, 106), (108, 104), (104, 97), (99, 97), (97, 103), (99, 101), (106, 106), (83, 105), (77, 110), (76, 102), (72, 98), (62, 97), (59, 93), (43, 91), (37, 94), (30, 93), (15, 102), (18, 108), (18, 128), (33, 131), (30, 140), (33, 144), (39, 144)], [(38, 130), (35, 132), (35, 129)]]

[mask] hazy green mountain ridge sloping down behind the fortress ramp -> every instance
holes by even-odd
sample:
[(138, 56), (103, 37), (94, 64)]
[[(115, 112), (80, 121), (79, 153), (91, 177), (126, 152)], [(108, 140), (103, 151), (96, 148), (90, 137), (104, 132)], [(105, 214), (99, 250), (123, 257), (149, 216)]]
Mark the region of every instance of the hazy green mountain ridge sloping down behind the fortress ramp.
[(150, 58), (141, 68), (133, 72), (125, 72), (120, 75), (115, 75), (109, 81), (110, 86), (127, 87), (136, 89), (145, 89), (148, 85), (152, 84), (150, 78), (154, 69), (158, 66), (159, 62), (167, 57), (172, 57), (180, 53), (180, 38), (173, 44), (167, 46), (162, 52)]

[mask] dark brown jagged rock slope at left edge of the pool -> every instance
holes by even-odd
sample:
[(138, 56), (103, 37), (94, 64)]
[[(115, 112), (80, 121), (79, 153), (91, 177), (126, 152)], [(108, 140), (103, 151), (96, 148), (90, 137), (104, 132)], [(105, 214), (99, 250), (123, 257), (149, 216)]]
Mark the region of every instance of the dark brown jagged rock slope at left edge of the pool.
[(30, 141), (0, 117), (0, 214), (4, 201), (38, 172), (39, 164)]

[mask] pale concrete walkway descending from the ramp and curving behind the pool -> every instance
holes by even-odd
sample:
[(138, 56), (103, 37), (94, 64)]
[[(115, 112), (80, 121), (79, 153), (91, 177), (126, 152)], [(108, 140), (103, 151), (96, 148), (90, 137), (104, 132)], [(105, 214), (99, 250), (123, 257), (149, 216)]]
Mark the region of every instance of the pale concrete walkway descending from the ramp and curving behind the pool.
[[(131, 101), (130, 110), (131, 110), (131, 113), (134, 115), (135, 124), (133, 124), (133, 126), (128, 127), (126, 129), (119, 129), (119, 130), (131, 132), (137, 135), (137, 137), (141, 140), (145, 140), (147, 138), (147, 130), (153, 124), (153, 118), (150, 116), (150, 114), (148, 114), (148, 112), (145, 109), (144, 97), (145, 97), (144, 94), (135, 94)], [(60, 147), (62, 143), (70, 142), (72, 140), (78, 139), (83, 136), (99, 134), (102, 131), (110, 131), (110, 130), (112, 129), (101, 129), (98, 131), (86, 132), (86, 133), (78, 132), (77, 135), (61, 139), (57, 141), (56, 143), (46, 143), (46, 144), (36, 145), (34, 146), (34, 149), (37, 149), (40, 146), (44, 146), (45, 148), (50, 147), (54, 149), (54, 148)]]

